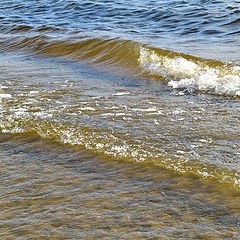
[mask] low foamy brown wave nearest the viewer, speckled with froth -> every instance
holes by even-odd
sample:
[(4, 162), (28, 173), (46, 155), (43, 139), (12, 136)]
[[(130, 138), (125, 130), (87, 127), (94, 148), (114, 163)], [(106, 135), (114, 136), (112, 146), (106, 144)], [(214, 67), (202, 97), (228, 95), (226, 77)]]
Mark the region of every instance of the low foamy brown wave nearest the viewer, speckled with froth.
[(5, 119), (2, 118), (0, 129), (4, 134), (22, 134), (24, 137), (38, 135), (42, 139), (71, 147), (84, 148), (116, 160), (150, 164), (178, 174), (194, 175), (206, 181), (217, 181), (223, 186), (227, 185), (235, 190), (240, 189), (240, 174), (236, 170), (165, 155), (159, 151), (154, 151), (153, 148), (148, 149), (144, 144), (137, 144), (131, 139), (123, 139), (121, 134), (107, 129), (102, 131), (101, 129), (73, 125), (68, 121), (62, 121), (59, 124), (56, 120), (51, 119), (53, 119), (53, 114), (46, 112), (28, 113), (24, 109), (17, 109), (15, 114)]

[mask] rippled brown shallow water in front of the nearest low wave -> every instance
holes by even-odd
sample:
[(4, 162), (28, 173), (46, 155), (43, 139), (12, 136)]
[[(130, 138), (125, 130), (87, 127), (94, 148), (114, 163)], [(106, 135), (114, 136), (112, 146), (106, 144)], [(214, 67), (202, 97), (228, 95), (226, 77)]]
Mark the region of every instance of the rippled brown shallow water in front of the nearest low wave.
[(239, 193), (36, 137), (1, 136), (2, 239), (238, 239)]

